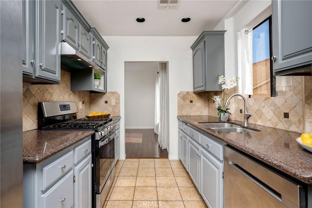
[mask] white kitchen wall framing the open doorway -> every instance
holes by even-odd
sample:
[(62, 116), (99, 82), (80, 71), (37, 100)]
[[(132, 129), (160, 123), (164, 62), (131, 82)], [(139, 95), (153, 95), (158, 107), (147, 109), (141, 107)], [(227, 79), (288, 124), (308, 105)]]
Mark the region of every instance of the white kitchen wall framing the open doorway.
[(125, 158), (125, 62), (168, 62), (169, 159), (178, 159), (177, 94), (193, 90), (192, 49), (197, 37), (106, 36), (108, 91), (120, 94), (120, 159)]

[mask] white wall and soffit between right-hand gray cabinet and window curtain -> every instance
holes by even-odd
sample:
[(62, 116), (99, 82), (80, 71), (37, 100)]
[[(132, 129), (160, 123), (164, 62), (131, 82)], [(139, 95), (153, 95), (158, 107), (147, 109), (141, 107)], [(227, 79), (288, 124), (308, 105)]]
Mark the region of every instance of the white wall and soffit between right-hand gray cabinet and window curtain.
[[(264, 10), (268, 17), (271, 13), (271, 0), (249, 0), (234, 14), (227, 15), (220, 21), (214, 30), (227, 30), (224, 36), (225, 42), (225, 76), (229, 79), (237, 76), (237, 32), (243, 29), (246, 25), (260, 23), (265, 17), (255, 19)], [(239, 5), (238, 5), (239, 6)]]

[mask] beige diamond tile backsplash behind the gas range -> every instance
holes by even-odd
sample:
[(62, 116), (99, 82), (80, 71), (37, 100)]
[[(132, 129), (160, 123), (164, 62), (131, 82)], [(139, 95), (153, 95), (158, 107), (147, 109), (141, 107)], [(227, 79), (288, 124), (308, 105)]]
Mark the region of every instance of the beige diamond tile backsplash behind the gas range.
[[(111, 100), (115, 99), (115, 105)], [(84, 102), (77, 118), (84, 118), (92, 111), (120, 116), (120, 96), (117, 92), (90, 93), (70, 90), (70, 73), (61, 70), (60, 84), (23, 83), (23, 131), (38, 128), (38, 103), (53, 101)], [(107, 104), (105, 104), (107, 101)]]

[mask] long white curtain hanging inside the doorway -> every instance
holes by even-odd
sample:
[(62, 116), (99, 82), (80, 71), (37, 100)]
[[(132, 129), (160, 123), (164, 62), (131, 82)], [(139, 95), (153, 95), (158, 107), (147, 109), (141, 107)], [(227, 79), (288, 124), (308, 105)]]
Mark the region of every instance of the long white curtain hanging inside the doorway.
[[(156, 78), (155, 91), (155, 124), (154, 131), (158, 134), (158, 144), (167, 149), (169, 141), (169, 107), (166, 63), (159, 63), (159, 73)], [(158, 127), (158, 128), (157, 128)]]

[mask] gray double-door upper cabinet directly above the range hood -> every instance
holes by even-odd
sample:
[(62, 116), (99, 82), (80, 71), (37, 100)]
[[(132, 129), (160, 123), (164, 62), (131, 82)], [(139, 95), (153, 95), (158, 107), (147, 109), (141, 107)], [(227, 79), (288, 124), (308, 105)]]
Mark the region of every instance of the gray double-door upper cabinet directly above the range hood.
[(85, 20), (78, 13), (76, 7), (72, 5), (71, 1), (64, 2), (70, 5), (62, 5), (62, 40), (90, 59), (90, 27), (86, 25), (87, 23), (83, 23)]

